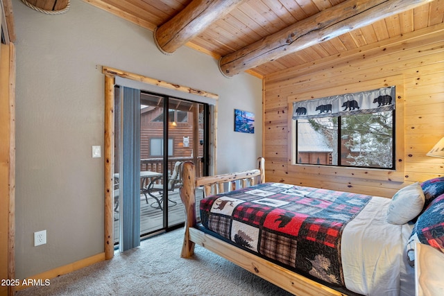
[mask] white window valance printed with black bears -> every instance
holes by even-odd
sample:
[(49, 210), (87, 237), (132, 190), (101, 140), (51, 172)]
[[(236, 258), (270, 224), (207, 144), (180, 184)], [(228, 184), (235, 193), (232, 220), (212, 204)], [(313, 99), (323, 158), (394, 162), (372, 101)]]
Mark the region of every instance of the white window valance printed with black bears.
[(293, 119), (355, 115), (395, 109), (395, 87), (293, 103)]

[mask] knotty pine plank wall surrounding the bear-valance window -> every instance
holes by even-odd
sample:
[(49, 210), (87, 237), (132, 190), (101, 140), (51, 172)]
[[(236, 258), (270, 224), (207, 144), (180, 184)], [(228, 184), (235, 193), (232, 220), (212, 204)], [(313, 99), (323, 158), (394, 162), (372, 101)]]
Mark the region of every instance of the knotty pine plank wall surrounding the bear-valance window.
[[(444, 24), (438, 24), (266, 76), (266, 181), (391, 197), (406, 184), (443, 176), (444, 159), (425, 155), (444, 137), (443, 36)], [(400, 141), (404, 143), (397, 143), (403, 155), (396, 155), (403, 162), (402, 171), (397, 172), (400, 177), (391, 180), (380, 170), (351, 169), (341, 173), (338, 168), (292, 164), (294, 101), (355, 92), (370, 80), (393, 77), (400, 80), (404, 92), (404, 123), (400, 129)]]

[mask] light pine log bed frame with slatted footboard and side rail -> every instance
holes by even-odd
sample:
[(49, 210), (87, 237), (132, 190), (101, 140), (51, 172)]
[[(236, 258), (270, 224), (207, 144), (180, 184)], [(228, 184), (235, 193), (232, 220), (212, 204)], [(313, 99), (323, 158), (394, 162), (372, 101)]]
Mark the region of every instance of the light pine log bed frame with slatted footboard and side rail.
[[(205, 196), (208, 196), (214, 193), (223, 193), (224, 187), (227, 187), (224, 186), (225, 183), (228, 184), (229, 191), (262, 183), (265, 180), (264, 162), (264, 158), (259, 157), (258, 169), (209, 177), (196, 177), (196, 169), (192, 162), (182, 164), (183, 185), (180, 188), (180, 198), (185, 205), (186, 219), (185, 237), (180, 256), (182, 258), (192, 256), (197, 243), (294, 295), (345, 295), (196, 228), (196, 188), (203, 188)], [(258, 181), (255, 182), (255, 180)], [(236, 184), (240, 184), (240, 186), (236, 188)]]

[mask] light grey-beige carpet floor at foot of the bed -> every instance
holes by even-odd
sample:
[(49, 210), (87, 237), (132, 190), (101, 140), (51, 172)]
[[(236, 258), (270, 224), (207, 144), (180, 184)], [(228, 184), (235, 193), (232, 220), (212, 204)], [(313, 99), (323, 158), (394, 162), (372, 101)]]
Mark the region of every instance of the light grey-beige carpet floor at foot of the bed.
[(148, 238), (112, 260), (17, 295), (290, 295), (198, 245), (191, 259), (180, 258), (182, 235), (177, 229)]

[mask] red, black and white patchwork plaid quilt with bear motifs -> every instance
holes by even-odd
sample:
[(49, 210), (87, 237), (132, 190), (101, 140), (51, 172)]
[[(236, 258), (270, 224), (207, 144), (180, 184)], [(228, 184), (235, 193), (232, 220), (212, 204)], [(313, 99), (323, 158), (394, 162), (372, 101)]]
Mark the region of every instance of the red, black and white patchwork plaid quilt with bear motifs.
[(345, 286), (341, 234), (371, 196), (281, 183), (212, 195), (200, 201), (205, 228), (235, 245)]

